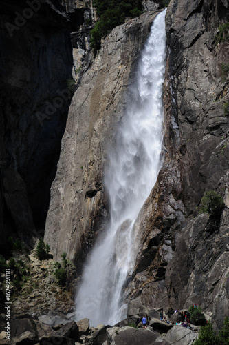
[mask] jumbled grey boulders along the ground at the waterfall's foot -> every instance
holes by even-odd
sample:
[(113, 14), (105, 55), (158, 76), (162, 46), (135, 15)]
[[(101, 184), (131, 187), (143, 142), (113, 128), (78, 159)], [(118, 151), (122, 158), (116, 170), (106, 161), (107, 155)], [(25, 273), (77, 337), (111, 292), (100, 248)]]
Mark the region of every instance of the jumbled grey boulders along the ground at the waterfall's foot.
[[(128, 317), (115, 326), (99, 325), (96, 328), (89, 326), (89, 319), (75, 322), (60, 313), (43, 315), (37, 319), (29, 314), (21, 315), (11, 322), (10, 339), (6, 339), (5, 324), (1, 323), (0, 345), (191, 345), (195, 342), (197, 332), (149, 316), (156, 313), (153, 310), (148, 314), (146, 329), (142, 328), (141, 322), (136, 325), (137, 315), (134, 318)], [(140, 318), (139, 314), (138, 316)]]

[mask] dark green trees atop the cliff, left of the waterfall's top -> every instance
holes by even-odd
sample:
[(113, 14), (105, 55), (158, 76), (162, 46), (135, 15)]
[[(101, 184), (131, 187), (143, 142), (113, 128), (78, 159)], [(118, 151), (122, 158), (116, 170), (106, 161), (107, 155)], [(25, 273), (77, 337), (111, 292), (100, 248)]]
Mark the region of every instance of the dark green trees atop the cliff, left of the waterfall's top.
[(113, 28), (123, 24), (127, 17), (138, 17), (142, 13), (142, 0), (94, 0), (100, 19), (91, 30), (91, 48), (100, 49), (101, 39)]

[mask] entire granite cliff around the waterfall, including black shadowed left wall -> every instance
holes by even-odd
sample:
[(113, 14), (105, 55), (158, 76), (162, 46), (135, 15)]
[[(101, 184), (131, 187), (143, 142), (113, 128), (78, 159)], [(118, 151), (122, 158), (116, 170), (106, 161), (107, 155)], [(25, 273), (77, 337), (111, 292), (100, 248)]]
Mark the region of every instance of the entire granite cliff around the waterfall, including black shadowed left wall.
[[(1, 3), (0, 235), (30, 239), (34, 228), (43, 228), (50, 201), (45, 241), (54, 259), (66, 251), (80, 273), (109, 221), (107, 148), (162, 2), (143, 1), (147, 12), (115, 28), (95, 59), (85, 26), (86, 19), (96, 20), (91, 1), (40, 4), (16, 25), (15, 12), (28, 4)], [(198, 304), (217, 328), (229, 312), (229, 133), (223, 113), (229, 95), (221, 68), (229, 45), (215, 37), (228, 10), (226, 0), (171, 0), (168, 6), (164, 165), (138, 217), (141, 246), (125, 291), (147, 308)], [(72, 67), (78, 81), (73, 98), (66, 85)], [(225, 204), (217, 227), (198, 213), (208, 190)]]

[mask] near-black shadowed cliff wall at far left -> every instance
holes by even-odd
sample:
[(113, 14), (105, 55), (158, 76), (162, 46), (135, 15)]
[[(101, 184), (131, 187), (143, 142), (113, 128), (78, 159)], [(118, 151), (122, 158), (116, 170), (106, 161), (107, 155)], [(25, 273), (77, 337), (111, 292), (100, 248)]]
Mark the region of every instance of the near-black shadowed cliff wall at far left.
[(54, 4), (1, 2), (1, 248), (45, 225), (72, 79), (69, 19)]

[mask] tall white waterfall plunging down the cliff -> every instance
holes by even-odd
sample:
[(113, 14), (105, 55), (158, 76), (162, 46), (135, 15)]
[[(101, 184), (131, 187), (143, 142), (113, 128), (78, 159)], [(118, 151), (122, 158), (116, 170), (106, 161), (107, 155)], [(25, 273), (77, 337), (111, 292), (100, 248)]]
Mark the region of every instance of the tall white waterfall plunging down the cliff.
[(138, 253), (136, 219), (157, 179), (162, 161), (162, 86), (166, 60), (166, 10), (155, 18), (138, 63), (135, 85), (109, 152), (105, 188), (111, 221), (85, 265), (76, 296), (76, 320), (113, 326), (127, 317), (123, 288)]

